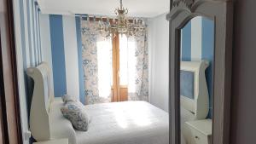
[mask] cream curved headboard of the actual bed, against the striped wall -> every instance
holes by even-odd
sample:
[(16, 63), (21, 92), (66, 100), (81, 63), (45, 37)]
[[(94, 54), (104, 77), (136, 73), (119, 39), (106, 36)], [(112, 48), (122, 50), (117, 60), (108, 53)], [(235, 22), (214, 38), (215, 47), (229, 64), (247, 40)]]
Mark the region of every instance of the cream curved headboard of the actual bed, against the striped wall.
[(27, 68), (26, 73), (34, 80), (30, 109), (30, 130), (37, 141), (50, 139), (49, 107), (54, 101), (50, 84), (49, 66), (42, 62), (37, 67)]

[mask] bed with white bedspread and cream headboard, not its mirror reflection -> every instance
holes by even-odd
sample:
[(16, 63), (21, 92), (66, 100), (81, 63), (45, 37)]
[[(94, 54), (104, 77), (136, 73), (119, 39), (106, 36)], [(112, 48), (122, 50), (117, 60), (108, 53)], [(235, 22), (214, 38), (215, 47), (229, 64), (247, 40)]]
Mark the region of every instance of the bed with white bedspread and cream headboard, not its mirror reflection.
[(53, 95), (49, 66), (27, 69), (34, 80), (30, 129), (37, 141), (68, 138), (69, 144), (168, 144), (168, 113), (146, 101), (84, 106), (90, 115), (88, 131), (74, 130), (62, 116), (64, 104)]

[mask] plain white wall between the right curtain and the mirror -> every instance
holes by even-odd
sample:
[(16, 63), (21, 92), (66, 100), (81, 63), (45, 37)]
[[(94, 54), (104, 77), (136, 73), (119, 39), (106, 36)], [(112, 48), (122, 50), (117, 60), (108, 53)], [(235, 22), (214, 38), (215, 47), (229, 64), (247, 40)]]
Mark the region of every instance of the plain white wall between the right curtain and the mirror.
[(168, 112), (169, 22), (166, 14), (148, 21), (149, 102)]

